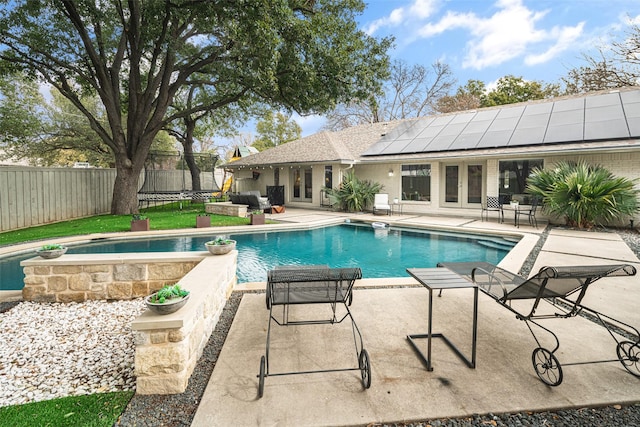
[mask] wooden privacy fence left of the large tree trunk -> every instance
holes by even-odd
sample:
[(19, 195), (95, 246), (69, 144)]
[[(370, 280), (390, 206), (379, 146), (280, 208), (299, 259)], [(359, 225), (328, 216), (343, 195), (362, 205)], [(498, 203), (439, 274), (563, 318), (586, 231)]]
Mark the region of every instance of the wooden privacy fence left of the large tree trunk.
[(115, 177), (115, 169), (0, 167), (0, 231), (109, 213)]

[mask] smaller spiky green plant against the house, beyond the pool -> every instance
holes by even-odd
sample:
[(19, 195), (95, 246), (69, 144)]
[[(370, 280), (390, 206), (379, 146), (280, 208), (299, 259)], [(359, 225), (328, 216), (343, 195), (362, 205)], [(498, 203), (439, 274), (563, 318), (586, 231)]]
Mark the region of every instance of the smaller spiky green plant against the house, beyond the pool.
[(349, 171), (338, 188), (327, 188), (327, 197), (332, 205), (346, 212), (361, 212), (373, 202), (376, 193), (382, 190), (382, 184), (359, 179)]

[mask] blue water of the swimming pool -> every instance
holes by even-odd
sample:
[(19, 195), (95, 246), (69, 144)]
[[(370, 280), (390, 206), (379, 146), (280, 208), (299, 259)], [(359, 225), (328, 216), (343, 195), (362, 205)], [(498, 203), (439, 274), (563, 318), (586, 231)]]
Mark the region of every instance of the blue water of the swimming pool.
[[(202, 251), (209, 236), (144, 240), (105, 240), (71, 246), (67, 253)], [(435, 267), (441, 261), (487, 261), (497, 264), (515, 246), (499, 236), (453, 232), (374, 229), (342, 224), (301, 231), (231, 234), (237, 240), (238, 282), (266, 281), (267, 271), (283, 264), (360, 267), (365, 278), (403, 277), (412, 267)], [(33, 254), (0, 259), (0, 290), (22, 289), (20, 261)]]

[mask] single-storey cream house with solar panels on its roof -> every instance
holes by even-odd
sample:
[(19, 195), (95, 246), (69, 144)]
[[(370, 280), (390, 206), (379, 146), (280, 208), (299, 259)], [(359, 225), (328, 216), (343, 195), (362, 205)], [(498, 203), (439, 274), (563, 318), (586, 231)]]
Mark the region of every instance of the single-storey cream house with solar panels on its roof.
[(404, 213), (479, 215), (486, 196), (527, 203), (526, 178), (561, 160), (640, 178), (640, 87), (320, 132), (225, 165), (239, 190), (284, 186), (320, 207), (350, 169)]

